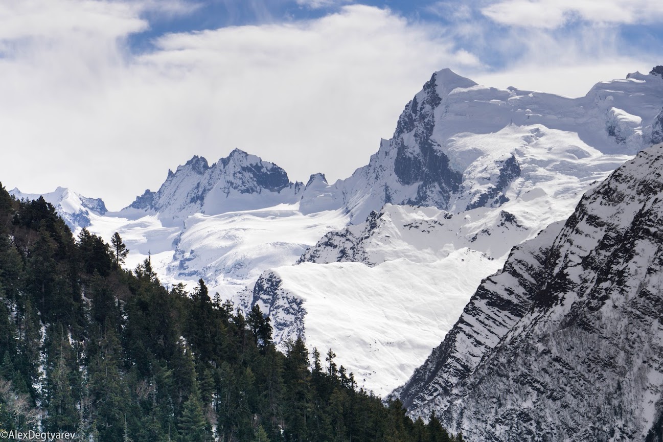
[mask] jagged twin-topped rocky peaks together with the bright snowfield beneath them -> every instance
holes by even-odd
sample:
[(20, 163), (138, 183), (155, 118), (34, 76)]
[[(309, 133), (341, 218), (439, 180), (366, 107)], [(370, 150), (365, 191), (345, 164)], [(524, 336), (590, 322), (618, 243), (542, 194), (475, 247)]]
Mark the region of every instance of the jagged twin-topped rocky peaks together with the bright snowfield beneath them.
[(271, 267), (296, 262), (324, 233), (341, 229), (343, 208), (320, 207), (328, 184), (312, 175), (292, 183), (271, 162), (235, 149), (208, 165), (194, 156), (168, 177), (158, 192), (145, 191), (119, 212), (91, 216), (90, 231), (110, 239), (117, 231), (131, 250), (133, 268), (150, 256), (164, 284), (194, 285), (232, 298)]

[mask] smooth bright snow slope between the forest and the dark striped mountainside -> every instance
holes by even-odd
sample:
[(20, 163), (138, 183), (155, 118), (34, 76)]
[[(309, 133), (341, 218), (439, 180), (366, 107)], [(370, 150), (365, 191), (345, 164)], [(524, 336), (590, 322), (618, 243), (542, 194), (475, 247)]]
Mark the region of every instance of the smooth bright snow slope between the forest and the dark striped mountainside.
[[(469, 270), (458, 272), (459, 262)], [(309, 347), (333, 349), (362, 386), (385, 396), (440, 342), (467, 293), (501, 263), (469, 249), (432, 262), (400, 258), (373, 267), (306, 262), (265, 272), (251, 304), (272, 312), (278, 342), (305, 333)]]

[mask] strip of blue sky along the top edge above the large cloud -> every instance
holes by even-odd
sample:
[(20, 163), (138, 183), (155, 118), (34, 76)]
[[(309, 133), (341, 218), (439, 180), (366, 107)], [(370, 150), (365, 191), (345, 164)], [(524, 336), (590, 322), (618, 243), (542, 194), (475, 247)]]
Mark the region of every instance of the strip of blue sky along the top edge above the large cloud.
[[(514, 29), (536, 28), (538, 25), (530, 20), (522, 20), (518, 23), (523, 25), (522, 27), (514, 26), (514, 23), (509, 23), (508, 20), (496, 19), (495, 15), (491, 17), (491, 14), (487, 13), (487, 9), (499, 4), (505, 5), (505, 9), (509, 7), (518, 9), (517, 4), (509, 5), (508, 3), (528, 3), (538, 7), (538, 10), (532, 11), (531, 14), (535, 17), (538, 16), (536, 21), (546, 21), (546, 14), (550, 9), (554, 9), (550, 8), (550, 5), (564, 2), (211, 0), (184, 1), (184, 3), (192, 7), (187, 13), (171, 15), (147, 13), (145, 17), (150, 21), (150, 28), (130, 36), (129, 42), (132, 49), (135, 52), (152, 50), (154, 38), (168, 32), (196, 32), (222, 27), (310, 21), (337, 13), (347, 5), (368, 5), (389, 9), (410, 23), (438, 27), (438, 32), (450, 36), (457, 48), (464, 48), (479, 56), (489, 70), (499, 70), (508, 64), (508, 56), (518, 57), (524, 55), (525, 52), (524, 48), (507, 50), (501, 45), (501, 39), (505, 35), (510, 35)], [(652, 11), (652, 17), (648, 17), (648, 11), (654, 2), (633, 2), (636, 5), (629, 11), (639, 8), (640, 17), (627, 19), (622, 11), (615, 11), (614, 15), (599, 17), (597, 21), (592, 19), (593, 6), (581, 8), (583, 3), (601, 5), (601, 0), (579, 1), (577, 8), (573, 7), (573, 2), (569, 3), (568, 6), (562, 7), (564, 19), (556, 25), (553, 23), (548, 28), (550, 35), (560, 38), (565, 35), (579, 34), (585, 28), (603, 28), (614, 34), (617, 53), (641, 52), (645, 56), (663, 54), (663, 26), (661, 26), (660, 8), (656, 8), (655, 11)], [(611, 3), (619, 2), (606, 1), (605, 9), (611, 9)], [(587, 9), (589, 11), (585, 13), (584, 11)], [(457, 27), (462, 24), (481, 28), (485, 38), (477, 39), (473, 34), (458, 34)], [(553, 25), (555, 26), (553, 27)]]

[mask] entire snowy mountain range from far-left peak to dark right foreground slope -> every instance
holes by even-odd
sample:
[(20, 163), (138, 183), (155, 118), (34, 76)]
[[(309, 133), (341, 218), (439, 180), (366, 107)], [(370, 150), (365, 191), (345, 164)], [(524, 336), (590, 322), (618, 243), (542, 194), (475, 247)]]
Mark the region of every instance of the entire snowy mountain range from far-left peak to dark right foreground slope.
[[(644, 339), (642, 327), (655, 322), (647, 284), (656, 278), (644, 275), (659, 258), (620, 245), (660, 192), (660, 147), (634, 155), (662, 141), (660, 76), (636, 72), (570, 98), (485, 87), (446, 69), (406, 104), (369, 164), (333, 184), (321, 173), (290, 182), (276, 164), (235, 149), (211, 166), (194, 156), (119, 212), (61, 188), (44, 197), (74, 231), (106, 239), (118, 231), (131, 249), (127, 265), (151, 256), (166, 284), (203, 278), (221, 298), (260, 305), (281, 348), (298, 335), (331, 347), (366, 388), (396, 388), (413, 415), (434, 411), (476, 440), (619, 440), (660, 419), (648, 390), (658, 371), (613, 362), (599, 396), (583, 396), (562, 388), (578, 372), (559, 352), (567, 345), (585, 363), (595, 343), (605, 346), (592, 355), (601, 364), (639, 366), (634, 355), (645, 347), (615, 350), (633, 338), (649, 346), (646, 366), (656, 365), (658, 332)], [(654, 232), (656, 219), (637, 229)], [(644, 255), (653, 261), (642, 264)], [(625, 270), (633, 260), (646, 280), (638, 296), (617, 290), (636, 280)], [(633, 309), (642, 293), (646, 315)], [(629, 325), (628, 315), (649, 325)], [(603, 335), (617, 318), (624, 328)], [(532, 374), (528, 360), (541, 355)], [(602, 380), (588, 373), (577, 388)], [(630, 402), (605, 403), (631, 414), (610, 428), (590, 419), (587, 404), (627, 378)], [(577, 399), (568, 413), (546, 414), (565, 395)], [(645, 396), (654, 405), (642, 405)]]

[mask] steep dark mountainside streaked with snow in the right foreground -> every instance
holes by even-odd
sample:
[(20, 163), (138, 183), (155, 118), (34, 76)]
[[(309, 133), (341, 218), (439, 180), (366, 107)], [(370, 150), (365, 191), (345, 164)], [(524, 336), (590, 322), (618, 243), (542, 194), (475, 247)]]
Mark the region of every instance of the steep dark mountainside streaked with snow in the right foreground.
[(663, 144), (511, 252), (397, 394), (469, 440), (644, 440), (663, 422)]

